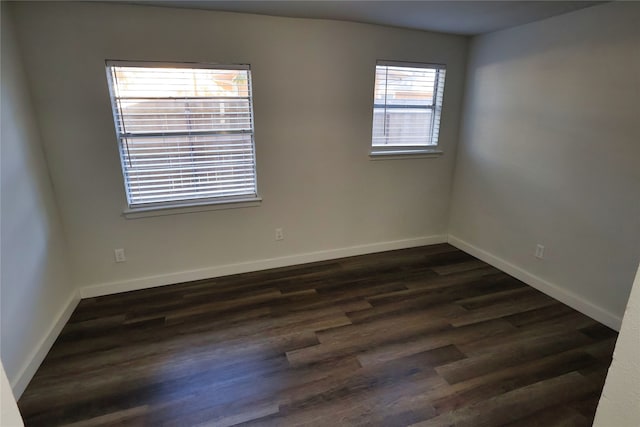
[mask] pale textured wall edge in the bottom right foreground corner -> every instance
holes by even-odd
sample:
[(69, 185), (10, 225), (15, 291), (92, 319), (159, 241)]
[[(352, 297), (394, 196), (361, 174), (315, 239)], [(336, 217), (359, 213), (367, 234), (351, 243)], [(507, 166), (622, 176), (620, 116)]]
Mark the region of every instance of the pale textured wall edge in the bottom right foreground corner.
[(595, 427), (640, 425), (640, 267), (631, 289)]

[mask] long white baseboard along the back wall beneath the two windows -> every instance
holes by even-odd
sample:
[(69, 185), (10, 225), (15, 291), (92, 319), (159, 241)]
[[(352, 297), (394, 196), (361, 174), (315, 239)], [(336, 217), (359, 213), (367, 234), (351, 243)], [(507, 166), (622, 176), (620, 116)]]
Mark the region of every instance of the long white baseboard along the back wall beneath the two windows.
[(215, 267), (187, 270), (175, 273), (160, 274), (156, 276), (139, 277), (119, 282), (100, 283), (85, 286), (80, 289), (82, 298), (92, 298), (102, 295), (116, 294), (119, 292), (135, 291), (138, 289), (153, 288), (156, 286), (170, 285), (174, 283), (189, 282), (192, 280), (209, 279), (212, 277), (229, 276), (232, 274), (248, 273), (252, 271), (268, 270), (270, 268), (288, 267), (309, 262), (325, 261), (329, 259), (344, 258), (355, 255), (364, 255), (375, 252), (392, 251), (416, 246), (434, 245), (446, 243), (446, 235), (425, 236), (413, 239), (394, 240), (390, 242), (373, 243), (368, 245), (350, 246), (340, 249), (308, 252), (298, 255), (289, 255), (279, 258), (268, 258), (257, 261), (227, 264)]

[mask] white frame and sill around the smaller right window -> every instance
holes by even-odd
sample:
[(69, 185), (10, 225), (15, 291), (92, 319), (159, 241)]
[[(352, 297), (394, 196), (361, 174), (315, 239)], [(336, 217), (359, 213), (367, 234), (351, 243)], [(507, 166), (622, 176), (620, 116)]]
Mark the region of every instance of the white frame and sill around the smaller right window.
[[(396, 106), (389, 103), (376, 103), (376, 79), (378, 74), (378, 67), (401, 67), (401, 68), (422, 68), (428, 70), (434, 70), (436, 72), (434, 77), (434, 92), (432, 96), (431, 105), (422, 104), (408, 104), (402, 106)], [(446, 70), (447, 66), (443, 63), (427, 63), (427, 62), (408, 62), (408, 61), (391, 61), (391, 60), (377, 60), (374, 67), (374, 90), (373, 90), (373, 102), (372, 102), (372, 127), (371, 127), (371, 141), (369, 143), (369, 156), (373, 160), (384, 158), (416, 158), (416, 157), (435, 157), (443, 154), (440, 144), (440, 128), (442, 123), (442, 111), (444, 109), (444, 89), (446, 87)], [(442, 82), (440, 78), (440, 72), (444, 72), (442, 76)], [(441, 85), (442, 83), (442, 85)], [(386, 83), (385, 83), (386, 86)], [(438, 101), (440, 104), (438, 105)], [(375, 124), (375, 111), (377, 108), (386, 109), (430, 109), (433, 114), (431, 116), (430, 129), (433, 132), (437, 128), (437, 133), (432, 134), (431, 142), (435, 139), (435, 144), (414, 144), (414, 145), (400, 145), (393, 144), (389, 146), (374, 145), (374, 124)]]

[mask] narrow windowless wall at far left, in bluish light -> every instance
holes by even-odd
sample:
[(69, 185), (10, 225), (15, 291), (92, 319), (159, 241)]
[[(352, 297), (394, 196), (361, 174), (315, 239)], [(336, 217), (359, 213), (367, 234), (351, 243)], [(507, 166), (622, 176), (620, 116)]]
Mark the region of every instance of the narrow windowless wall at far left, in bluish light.
[(0, 356), (19, 396), (73, 308), (75, 288), (6, 3), (1, 14)]

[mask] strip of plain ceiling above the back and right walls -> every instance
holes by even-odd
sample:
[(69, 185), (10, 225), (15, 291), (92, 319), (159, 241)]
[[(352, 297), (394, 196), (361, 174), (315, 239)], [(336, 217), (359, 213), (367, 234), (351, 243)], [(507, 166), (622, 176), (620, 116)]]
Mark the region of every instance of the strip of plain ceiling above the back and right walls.
[(223, 10), (296, 18), (336, 19), (476, 35), (593, 6), (601, 1), (126, 1), (153, 6)]

